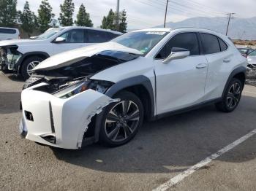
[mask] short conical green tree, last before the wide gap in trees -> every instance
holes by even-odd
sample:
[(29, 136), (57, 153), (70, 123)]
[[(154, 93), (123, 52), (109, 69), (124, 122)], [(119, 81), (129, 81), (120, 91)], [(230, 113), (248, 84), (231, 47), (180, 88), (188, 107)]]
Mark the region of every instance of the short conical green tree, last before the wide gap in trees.
[(86, 7), (84, 7), (83, 4), (80, 5), (77, 20), (75, 20), (75, 24), (77, 26), (94, 26), (93, 23), (91, 23), (90, 14), (86, 12)]

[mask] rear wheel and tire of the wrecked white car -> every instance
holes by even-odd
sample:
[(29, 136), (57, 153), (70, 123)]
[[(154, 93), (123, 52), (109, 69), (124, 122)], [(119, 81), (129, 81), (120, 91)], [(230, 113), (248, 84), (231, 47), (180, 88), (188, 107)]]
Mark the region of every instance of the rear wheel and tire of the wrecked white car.
[(243, 85), (241, 81), (236, 78), (231, 79), (222, 101), (215, 104), (217, 109), (221, 112), (233, 112), (240, 102), (242, 90)]

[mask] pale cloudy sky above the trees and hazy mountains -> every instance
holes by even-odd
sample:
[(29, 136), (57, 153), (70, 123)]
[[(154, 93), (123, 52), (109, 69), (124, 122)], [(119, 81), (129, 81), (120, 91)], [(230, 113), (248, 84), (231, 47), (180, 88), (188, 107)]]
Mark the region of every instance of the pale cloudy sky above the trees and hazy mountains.
[[(26, 0), (18, 0), (17, 9), (23, 10)], [(31, 11), (37, 15), (41, 0), (29, 1)], [(59, 5), (64, 0), (48, 0), (56, 19)], [(102, 17), (110, 9), (116, 10), (117, 0), (73, 0), (74, 19), (80, 4), (89, 12), (94, 27), (99, 27)], [(235, 12), (235, 17), (255, 17), (256, 0), (168, 0), (167, 22), (178, 22), (189, 17), (227, 17), (227, 12)], [(150, 28), (164, 23), (166, 0), (120, 0), (120, 10), (126, 9), (129, 29)]]

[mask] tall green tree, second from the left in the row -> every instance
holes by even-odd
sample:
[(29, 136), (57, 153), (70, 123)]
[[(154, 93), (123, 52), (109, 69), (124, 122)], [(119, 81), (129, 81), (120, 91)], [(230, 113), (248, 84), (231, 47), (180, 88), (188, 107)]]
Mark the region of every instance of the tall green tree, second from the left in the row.
[(20, 24), (23, 31), (26, 31), (30, 37), (34, 31), (34, 12), (29, 9), (29, 2), (26, 1), (23, 12), (19, 12)]

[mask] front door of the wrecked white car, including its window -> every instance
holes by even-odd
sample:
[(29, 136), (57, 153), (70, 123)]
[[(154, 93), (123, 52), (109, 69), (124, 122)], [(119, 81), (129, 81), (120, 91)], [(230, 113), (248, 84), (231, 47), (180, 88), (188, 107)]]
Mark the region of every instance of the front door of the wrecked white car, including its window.
[[(172, 47), (186, 48), (187, 58), (162, 61), (170, 55)], [(197, 33), (173, 36), (154, 60), (157, 79), (157, 114), (183, 109), (203, 101), (208, 63), (200, 55)]]

